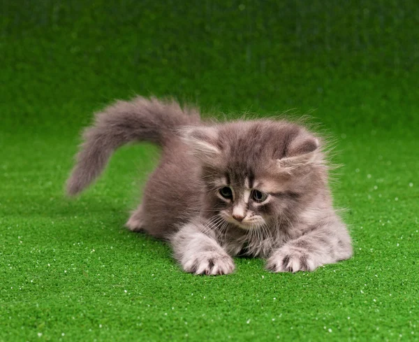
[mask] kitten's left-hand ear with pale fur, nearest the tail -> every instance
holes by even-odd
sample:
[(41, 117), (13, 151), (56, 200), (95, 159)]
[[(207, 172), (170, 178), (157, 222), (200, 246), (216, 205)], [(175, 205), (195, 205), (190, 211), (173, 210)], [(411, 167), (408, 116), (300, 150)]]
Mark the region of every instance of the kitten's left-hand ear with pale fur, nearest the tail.
[(182, 140), (189, 145), (199, 159), (213, 159), (221, 154), (217, 145), (218, 130), (215, 127), (186, 127), (181, 131)]

